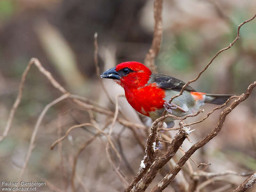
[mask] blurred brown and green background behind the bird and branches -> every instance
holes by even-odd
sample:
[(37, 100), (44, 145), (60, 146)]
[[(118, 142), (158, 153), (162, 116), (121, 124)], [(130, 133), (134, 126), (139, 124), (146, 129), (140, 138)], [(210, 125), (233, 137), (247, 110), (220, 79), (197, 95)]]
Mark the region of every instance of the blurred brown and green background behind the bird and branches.
[[(153, 29), (153, 0), (0, 0), (0, 132), (16, 99), (22, 72), (32, 57), (38, 58), (44, 68), (72, 94), (98, 102), (114, 111), (97, 79), (93, 53), (93, 36), (98, 32), (100, 72), (123, 61), (143, 62), (150, 48)], [(174, 76), (185, 82), (197, 76), (200, 70), (220, 49), (236, 37), (237, 26), (255, 14), (256, 1), (247, 0), (165, 0), (163, 9), (162, 45), (156, 65), (159, 73)], [(195, 82), (197, 91), (236, 94), (246, 91), (256, 74), (256, 21), (245, 24), (241, 38), (229, 50), (222, 52)], [(122, 89), (110, 80), (103, 80), (112, 100)], [(17, 181), (28, 151), (36, 120), (45, 105), (61, 95), (34, 66), (28, 73), (19, 108), (8, 136), (0, 142), (0, 178)], [(236, 107), (226, 118), (218, 136), (196, 151), (192, 158), (207, 172), (256, 170), (256, 91)], [(150, 125), (138, 116), (124, 98), (120, 107), (136, 123)], [(188, 119), (203, 118), (213, 105), (204, 106), (205, 112)], [(221, 111), (216, 111), (201, 124), (192, 125), (193, 143), (202, 139), (218, 122)], [(95, 114), (103, 126), (104, 115)], [(58, 124), (59, 122), (59, 124)], [(35, 147), (23, 176), (26, 181), (46, 180), (62, 191), (71, 191), (72, 162), (79, 147), (96, 132), (77, 128), (63, 141), (62, 156), (52, 142), (64, 135), (72, 125), (89, 122), (86, 111), (75, 104), (62, 101), (49, 109), (36, 135)], [(178, 124), (178, 123), (176, 123)], [(58, 126), (62, 132), (58, 135)], [(122, 135), (121, 135), (122, 131)], [(108, 132), (108, 129), (106, 129)], [(175, 131), (171, 132), (172, 136)], [(147, 135), (145, 135), (146, 137)], [(123, 151), (129, 164), (121, 162), (120, 171), (130, 183), (139, 170), (145, 155), (129, 129), (116, 123), (112, 140)], [(120, 147), (120, 140), (122, 146)], [(119, 143), (119, 144), (118, 144)], [(146, 143), (146, 139), (145, 139)], [(193, 144), (187, 140), (184, 150)], [(99, 137), (79, 156), (76, 173), (88, 191), (123, 191), (123, 185), (108, 163), (106, 138)], [(113, 153), (113, 156), (115, 154)], [(62, 157), (62, 158), (61, 158)], [(179, 160), (179, 154), (175, 157)], [(127, 165), (130, 165), (127, 166)], [(193, 170), (198, 168), (192, 163)], [(168, 171), (168, 167), (165, 168)], [(188, 183), (189, 174), (184, 171)], [(163, 176), (158, 174), (153, 188)], [(207, 185), (200, 191), (212, 191), (232, 183), (236, 187), (246, 177), (228, 175), (223, 180)], [(205, 178), (200, 178), (204, 182)], [(76, 181), (76, 191), (86, 191)], [(230, 191), (231, 188), (226, 191)], [(54, 191), (46, 185), (38, 191)], [(177, 191), (170, 185), (165, 191)], [(225, 191), (225, 190), (224, 190)], [(252, 188), (248, 191), (256, 191)]]

